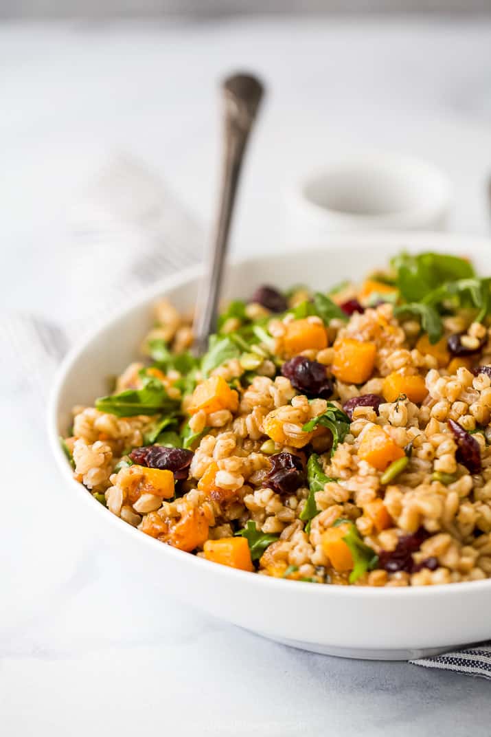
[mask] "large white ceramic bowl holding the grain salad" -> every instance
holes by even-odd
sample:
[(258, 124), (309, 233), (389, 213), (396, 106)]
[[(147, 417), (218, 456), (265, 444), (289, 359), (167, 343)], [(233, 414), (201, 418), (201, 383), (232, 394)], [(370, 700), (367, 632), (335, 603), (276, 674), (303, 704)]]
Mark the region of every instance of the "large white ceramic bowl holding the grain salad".
[[(349, 247), (349, 248), (348, 248)], [(300, 249), (282, 256), (258, 256), (231, 265), (225, 296), (247, 297), (261, 282), (286, 287), (298, 282), (326, 290), (358, 279), (392, 254), (437, 250), (473, 257), (491, 272), (491, 244), (474, 237), (393, 234), (336, 237), (322, 250)], [(314, 652), (378, 659), (406, 659), (491, 637), (491, 580), (446, 586), (369, 588), (305, 584), (273, 579), (216, 565), (163, 545), (99, 504), (71, 478), (58, 436), (66, 433), (71, 407), (105, 394), (105, 379), (118, 374), (138, 354), (152, 322), (151, 305), (166, 295), (189, 307), (198, 272), (172, 276), (106, 321), (68, 355), (60, 368), (49, 408), (52, 450), (63, 478), (71, 514), (98, 531), (115, 548), (121, 566), (155, 590), (155, 607), (165, 616), (166, 597), (179, 598), (211, 615), (267, 638)], [(73, 518), (72, 518), (73, 519)]]

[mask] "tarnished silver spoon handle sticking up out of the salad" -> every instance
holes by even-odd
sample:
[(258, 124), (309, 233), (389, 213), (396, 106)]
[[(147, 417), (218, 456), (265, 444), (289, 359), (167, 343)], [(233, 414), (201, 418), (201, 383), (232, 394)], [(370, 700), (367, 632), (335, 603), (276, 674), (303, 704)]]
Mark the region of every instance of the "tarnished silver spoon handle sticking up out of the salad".
[(202, 355), (216, 328), (216, 307), (227, 253), (228, 235), (247, 139), (263, 96), (263, 85), (250, 74), (235, 74), (222, 83), (224, 163), (216, 231), (205, 262), (194, 317), (194, 352)]

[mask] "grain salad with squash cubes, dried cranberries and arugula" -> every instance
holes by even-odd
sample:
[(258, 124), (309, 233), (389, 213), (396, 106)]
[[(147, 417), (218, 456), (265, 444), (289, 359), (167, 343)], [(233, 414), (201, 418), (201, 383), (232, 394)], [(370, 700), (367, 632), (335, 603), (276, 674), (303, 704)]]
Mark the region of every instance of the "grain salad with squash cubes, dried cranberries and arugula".
[(142, 533), (264, 576), (489, 578), (490, 284), (422, 253), (326, 293), (259, 287), (199, 360), (192, 315), (162, 300), (142, 360), (74, 408), (74, 478)]

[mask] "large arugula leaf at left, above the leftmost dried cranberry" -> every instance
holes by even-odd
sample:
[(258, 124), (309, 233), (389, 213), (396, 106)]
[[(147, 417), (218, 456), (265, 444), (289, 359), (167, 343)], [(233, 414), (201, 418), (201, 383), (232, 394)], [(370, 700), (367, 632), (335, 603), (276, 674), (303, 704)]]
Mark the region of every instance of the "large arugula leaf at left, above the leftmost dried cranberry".
[(174, 411), (179, 402), (171, 399), (163, 383), (154, 377), (144, 377), (141, 389), (127, 389), (120, 394), (109, 394), (96, 399), (96, 409), (117, 417), (160, 414)]

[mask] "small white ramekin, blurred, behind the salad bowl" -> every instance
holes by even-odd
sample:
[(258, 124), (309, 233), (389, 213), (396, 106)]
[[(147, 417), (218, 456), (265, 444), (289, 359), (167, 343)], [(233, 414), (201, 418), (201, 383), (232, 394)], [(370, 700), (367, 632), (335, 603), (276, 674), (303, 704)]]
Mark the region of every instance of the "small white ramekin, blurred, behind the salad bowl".
[(363, 153), (326, 164), (289, 189), (289, 237), (445, 230), (451, 184), (433, 164), (392, 153)]

